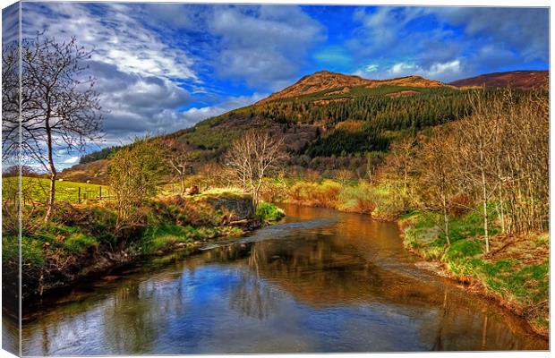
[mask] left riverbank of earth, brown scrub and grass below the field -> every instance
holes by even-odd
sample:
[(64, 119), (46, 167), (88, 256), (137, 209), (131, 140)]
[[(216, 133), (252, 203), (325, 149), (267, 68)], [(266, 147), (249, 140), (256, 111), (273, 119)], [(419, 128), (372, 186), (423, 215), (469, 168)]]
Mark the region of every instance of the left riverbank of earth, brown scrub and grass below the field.
[[(117, 211), (107, 201), (61, 202), (49, 223), (42, 222), (43, 215), (44, 207), (27, 206), (23, 211), (24, 302), (134, 260), (175, 250), (191, 254), (209, 241), (243, 236), (284, 214), (269, 203), (261, 203), (255, 212), (251, 197), (241, 192), (211, 191), (149, 200), (123, 226), (116, 226)], [(18, 236), (5, 230), (4, 294), (17, 289), (9, 277), (17, 273), (18, 256)]]

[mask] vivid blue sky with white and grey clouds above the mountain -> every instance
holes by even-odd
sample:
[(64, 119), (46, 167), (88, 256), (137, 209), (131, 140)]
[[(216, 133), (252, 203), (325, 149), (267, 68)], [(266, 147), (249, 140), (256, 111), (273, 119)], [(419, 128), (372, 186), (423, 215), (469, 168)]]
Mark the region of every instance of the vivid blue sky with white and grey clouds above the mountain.
[(549, 67), (547, 8), (23, 3), (21, 18), (23, 37), (94, 49), (105, 139), (90, 150), (190, 127), (324, 69), (454, 81)]

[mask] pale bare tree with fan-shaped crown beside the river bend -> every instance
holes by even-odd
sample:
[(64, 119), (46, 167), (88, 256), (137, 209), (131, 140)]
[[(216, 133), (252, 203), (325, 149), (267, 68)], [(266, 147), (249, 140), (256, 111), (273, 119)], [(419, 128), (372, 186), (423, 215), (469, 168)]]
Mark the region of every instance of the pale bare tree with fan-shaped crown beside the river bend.
[(257, 208), (264, 179), (275, 173), (286, 158), (283, 138), (275, 139), (268, 132), (248, 132), (229, 147), (225, 163), (243, 190), (252, 194), (252, 204)]

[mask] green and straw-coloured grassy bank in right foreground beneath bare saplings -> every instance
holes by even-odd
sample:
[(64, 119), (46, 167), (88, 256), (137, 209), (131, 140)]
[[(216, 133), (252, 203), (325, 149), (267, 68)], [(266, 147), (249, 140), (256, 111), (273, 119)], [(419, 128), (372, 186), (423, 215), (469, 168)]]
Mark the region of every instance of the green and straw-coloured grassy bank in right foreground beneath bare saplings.
[[(491, 221), (494, 221), (491, 210)], [(482, 217), (474, 212), (450, 223), (451, 245), (434, 213), (413, 213), (399, 220), (409, 251), (436, 262), (432, 269), (494, 299), (549, 333), (549, 234), (507, 235), (491, 228), (491, 251), (485, 253)]]

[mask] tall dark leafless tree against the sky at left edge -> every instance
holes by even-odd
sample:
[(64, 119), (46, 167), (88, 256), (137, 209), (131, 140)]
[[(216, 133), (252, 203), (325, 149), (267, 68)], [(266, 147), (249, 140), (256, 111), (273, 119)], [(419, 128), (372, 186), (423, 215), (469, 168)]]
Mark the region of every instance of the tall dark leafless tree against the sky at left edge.
[[(3, 53), (6, 68), (17, 61), (13, 51), (18, 50), (10, 47)], [(100, 138), (102, 116), (98, 94), (93, 90), (94, 79), (85, 78), (87, 67), (81, 64), (90, 55), (91, 51), (79, 47), (75, 38), (58, 43), (54, 38), (38, 34), (36, 38), (21, 41), (21, 123), (17, 123), (19, 116), (4, 118), (8, 127), (21, 124), (21, 144), (10, 143), (5, 147), (4, 156), (21, 150), (22, 157), (38, 162), (50, 174), (45, 221), (54, 212), (55, 150), (60, 146), (68, 151), (82, 150), (86, 141)], [(13, 76), (7, 80), (13, 81)], [(9, 97), (6, 99), (11, 102), (20, 99)]]

